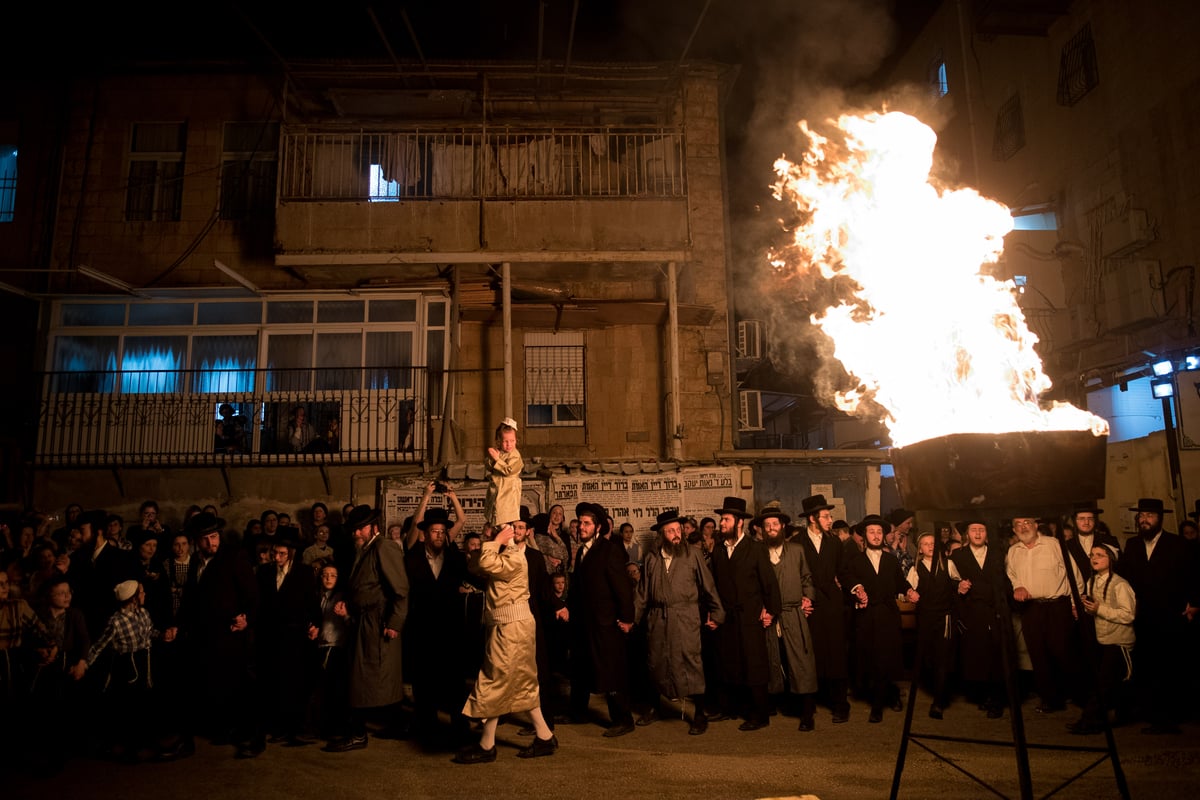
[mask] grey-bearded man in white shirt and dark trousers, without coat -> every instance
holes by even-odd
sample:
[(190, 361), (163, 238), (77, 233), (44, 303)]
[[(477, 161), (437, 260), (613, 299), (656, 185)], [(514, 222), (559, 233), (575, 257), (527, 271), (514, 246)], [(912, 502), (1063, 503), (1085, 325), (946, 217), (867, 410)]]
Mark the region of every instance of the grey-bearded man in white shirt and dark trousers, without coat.
[(1084, 585), (1084, 578), (1070, 559), (1063, 559), (1058, 540), (1038, 533), (1033, 516), (1013, 517), (1016, 543), (1008, 551), (1004, 565), (1013, 584), (1013, 600), (1021, 604), (1021, 634), (1033, 664), (1033, 685), (1042, 703), (1033, 710), (1052, 714), (1066, 708), (1066, 691), (1078, 667), (1072, 651), (1076, 609), (1072, 603), (1070, 578)]

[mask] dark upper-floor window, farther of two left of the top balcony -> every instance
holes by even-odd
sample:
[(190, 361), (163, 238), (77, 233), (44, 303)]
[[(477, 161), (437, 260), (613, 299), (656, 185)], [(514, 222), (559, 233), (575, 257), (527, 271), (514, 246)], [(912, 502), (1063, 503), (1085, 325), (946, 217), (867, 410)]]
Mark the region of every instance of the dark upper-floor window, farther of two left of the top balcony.
[(184, 122), (134, 122), (125, 218), (179, 222), (184, 205)]

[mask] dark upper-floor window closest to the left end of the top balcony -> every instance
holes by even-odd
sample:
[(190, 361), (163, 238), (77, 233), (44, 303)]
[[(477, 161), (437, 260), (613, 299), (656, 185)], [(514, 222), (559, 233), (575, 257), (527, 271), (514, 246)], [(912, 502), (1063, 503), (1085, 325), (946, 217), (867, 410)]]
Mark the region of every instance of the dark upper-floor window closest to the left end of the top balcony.
[(262, 219), (275, 211), (278, 122), (226, 122), (221, 218)]

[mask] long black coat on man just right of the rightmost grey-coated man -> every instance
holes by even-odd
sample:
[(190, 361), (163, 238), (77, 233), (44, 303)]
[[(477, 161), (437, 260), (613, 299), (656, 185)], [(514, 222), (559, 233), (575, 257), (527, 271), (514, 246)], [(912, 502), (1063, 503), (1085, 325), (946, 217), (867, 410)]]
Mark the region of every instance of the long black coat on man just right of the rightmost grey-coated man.
[(822, 534), (821, 552), (812, 546), (806, 530), (800, 530), (791, 540), (793, 545), (804, 546), (804, 560), (812, 573), (812, 615), (809, 616), (809, 630), (812, 631), (812, 649), (817, 662), (817, 678), (848, 678), (846, 664), (846, 600), (838, 585), (838, 575), (842, 570), (848, 551), (835, 534)]

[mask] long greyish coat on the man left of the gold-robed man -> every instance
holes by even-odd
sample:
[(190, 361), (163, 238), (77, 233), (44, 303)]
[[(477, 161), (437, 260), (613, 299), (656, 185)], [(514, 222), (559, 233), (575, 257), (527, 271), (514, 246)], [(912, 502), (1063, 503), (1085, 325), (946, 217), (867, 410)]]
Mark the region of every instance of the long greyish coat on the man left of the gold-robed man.
[(350, 706), (398, 703), (404, 698), (402, 637), (384, 636), (384, 628), (402, 632), (408, 615), (408, 575), (398, 542), (376, 535), (364, 546), (350, 571), (346, 600), (355, 620)]

